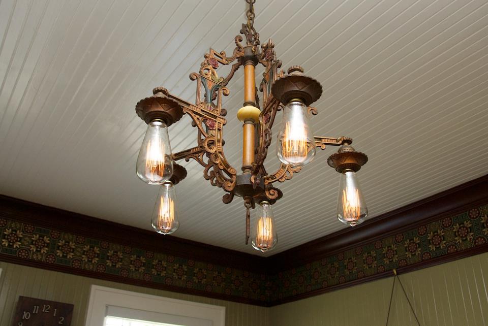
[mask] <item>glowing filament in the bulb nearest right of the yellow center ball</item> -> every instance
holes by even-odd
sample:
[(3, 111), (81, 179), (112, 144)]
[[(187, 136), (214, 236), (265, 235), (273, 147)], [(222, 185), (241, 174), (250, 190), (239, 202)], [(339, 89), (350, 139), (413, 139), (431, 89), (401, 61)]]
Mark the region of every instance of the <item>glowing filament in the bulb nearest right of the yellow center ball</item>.
[(303, 123), (286, 122), (282, 140), (282, 155), (289, 162), (301, 163), (307, 158), (307, 132)]

